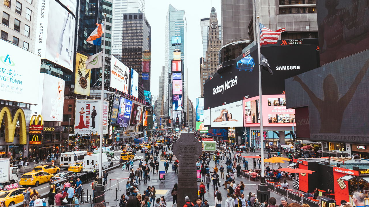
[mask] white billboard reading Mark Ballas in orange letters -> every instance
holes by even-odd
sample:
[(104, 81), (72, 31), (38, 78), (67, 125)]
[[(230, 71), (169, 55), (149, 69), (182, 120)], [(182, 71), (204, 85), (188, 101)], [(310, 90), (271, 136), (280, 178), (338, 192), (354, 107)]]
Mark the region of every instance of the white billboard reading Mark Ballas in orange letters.
[(110, 66), (110, 87), (115, 88), (118, 91), (122, 91), (128, 94), (128, 74), (130, 69), (128, 69), (125, 64), (120, 62), (114, 56), (111, 56), (111, 66)]

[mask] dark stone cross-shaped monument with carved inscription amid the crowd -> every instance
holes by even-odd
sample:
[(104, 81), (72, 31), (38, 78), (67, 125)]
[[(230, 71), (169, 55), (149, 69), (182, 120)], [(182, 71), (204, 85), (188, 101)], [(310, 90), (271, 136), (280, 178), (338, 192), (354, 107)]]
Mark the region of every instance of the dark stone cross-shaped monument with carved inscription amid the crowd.
[(183, 206), (184, 197), (194, 202), (197, 198), (196, 159), (202, 154), (202, 145), (194, 133), (181, 132), (181, 137), (173, 143), (173, 154), (179, 160), (177, 206)]

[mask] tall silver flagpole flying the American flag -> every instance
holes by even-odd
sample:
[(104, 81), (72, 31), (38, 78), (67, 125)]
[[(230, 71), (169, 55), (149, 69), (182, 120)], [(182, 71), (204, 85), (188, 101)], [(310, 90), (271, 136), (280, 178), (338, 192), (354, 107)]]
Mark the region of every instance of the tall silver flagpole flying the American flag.
[(260, 62), (261, 62), (261, 51), (260, 51), (260, 23), (259, 23), (259, 16), (256, 17), (258, 19), (257, 27), (258, 29), (258, 36), (256, 36), (256, 39), (258, 39), (258, 69), (259, 69), (259, 106), (260, 106), (260, 150), (261, 150), (261, 185), (265, 185), (265, 173), (264, 173), (264, 133), (263, 133), (263, 105), (262, 105), (262, 91), (261, 91), (261, 69), (260, 69)]

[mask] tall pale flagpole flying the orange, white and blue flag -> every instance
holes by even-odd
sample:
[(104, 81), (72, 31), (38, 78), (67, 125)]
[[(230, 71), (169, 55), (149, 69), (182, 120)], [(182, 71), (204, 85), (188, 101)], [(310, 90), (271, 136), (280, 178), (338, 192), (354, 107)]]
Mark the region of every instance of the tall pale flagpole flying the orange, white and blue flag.
[[(105, 27), (106, 22), (106, 14), (104, 14), (104, 25)], [(105, 30), (105, 28), (103, 28)], [(101, 74), (101, 117), (100, 117), (100, 165), (99, 165), (99, 178), (102, 179), (103, 175), (103, 110), (104, 110), (104, 79), (105, 79), (105, 37), (101, 36), (101, 39), (103, 40), (103, 73)]]

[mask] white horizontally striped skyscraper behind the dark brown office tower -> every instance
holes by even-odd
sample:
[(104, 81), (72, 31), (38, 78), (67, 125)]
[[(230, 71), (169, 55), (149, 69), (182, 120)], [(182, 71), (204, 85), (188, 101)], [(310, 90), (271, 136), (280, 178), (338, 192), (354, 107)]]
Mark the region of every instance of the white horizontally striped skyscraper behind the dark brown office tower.
[(121, 60), (122, 56), (122, 34), (124, 14), (144, 13), (145, 0), (114, 0), (113, 5), (113, 41), (111, 54)]

